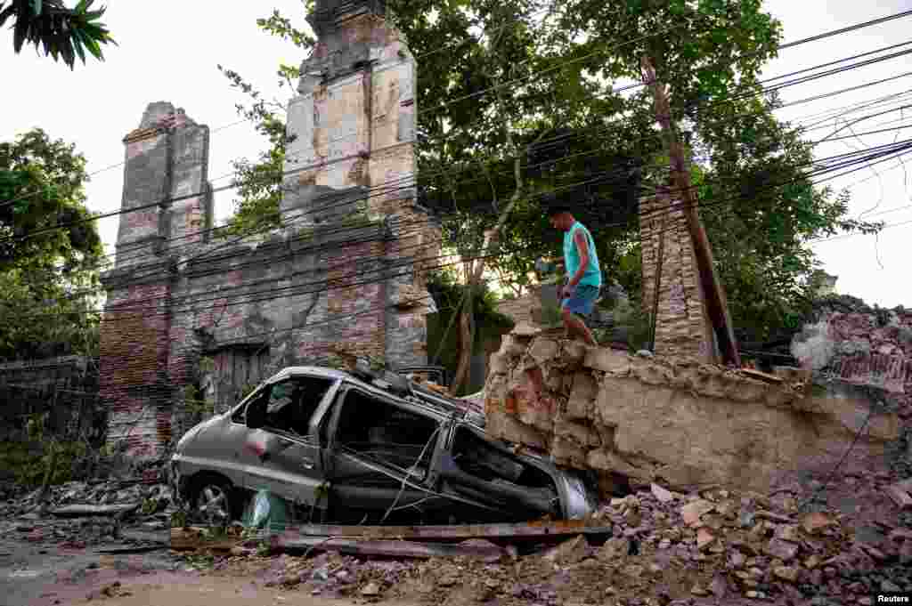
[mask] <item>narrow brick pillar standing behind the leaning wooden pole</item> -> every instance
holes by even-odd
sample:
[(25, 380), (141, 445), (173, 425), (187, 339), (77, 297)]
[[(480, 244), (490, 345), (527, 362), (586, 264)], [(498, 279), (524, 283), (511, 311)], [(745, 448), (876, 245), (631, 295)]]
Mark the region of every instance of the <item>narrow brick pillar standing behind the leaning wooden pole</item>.
[(643, 309), (651, 318), (658, 276), (656, 353), (710, 362), (714, 347), (712, 324), (680, 204), (666, 191), (639, 202)]

